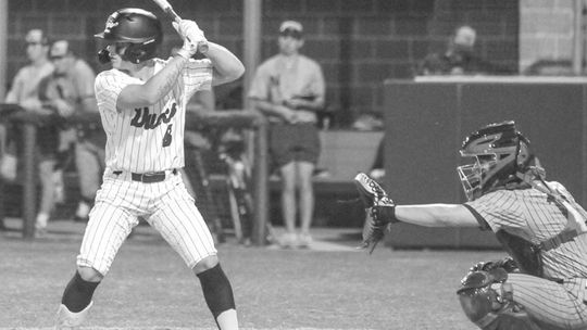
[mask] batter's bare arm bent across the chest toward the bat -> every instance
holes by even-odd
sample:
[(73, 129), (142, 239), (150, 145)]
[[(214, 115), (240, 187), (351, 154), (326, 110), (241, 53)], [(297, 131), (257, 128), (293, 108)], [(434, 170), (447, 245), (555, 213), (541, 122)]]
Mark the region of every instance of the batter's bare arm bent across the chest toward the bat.
[(116, 100), (116, 106), (135, 109), (157, 103), (173, 89), (187, 62), (187, 59), (175, 55), (143, 85), (132, 84), (124, 87)]

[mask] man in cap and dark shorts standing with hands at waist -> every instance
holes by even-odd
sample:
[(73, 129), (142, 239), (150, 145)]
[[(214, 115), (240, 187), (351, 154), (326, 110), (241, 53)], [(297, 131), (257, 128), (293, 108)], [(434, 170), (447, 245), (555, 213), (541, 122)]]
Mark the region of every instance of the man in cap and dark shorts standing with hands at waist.
[[(312, 241), (312, 174), (320, 154), (316, 111), (324, 107), (325, 82), (321, 66), (299, 53), (303, 42), (302, 25), (283, 22), (279, 53), (258, 67), (248, 96), (272, 123), (270, 151), (282, 176), (282, 213), (287, 230), (280, 239), (284, 248), (308, 246)], [(298, 206), (299, 234), (296, 232)]]

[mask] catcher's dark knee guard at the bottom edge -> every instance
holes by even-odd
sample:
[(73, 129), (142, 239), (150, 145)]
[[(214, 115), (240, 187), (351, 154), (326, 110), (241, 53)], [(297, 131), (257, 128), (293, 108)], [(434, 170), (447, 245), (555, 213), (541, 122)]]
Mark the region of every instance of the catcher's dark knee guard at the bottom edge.
[(538, 329), (522, 306), (513, 302), (507, 278), (503, 269), (467, 274), (457, 290), (464, 314), (484, 330)]

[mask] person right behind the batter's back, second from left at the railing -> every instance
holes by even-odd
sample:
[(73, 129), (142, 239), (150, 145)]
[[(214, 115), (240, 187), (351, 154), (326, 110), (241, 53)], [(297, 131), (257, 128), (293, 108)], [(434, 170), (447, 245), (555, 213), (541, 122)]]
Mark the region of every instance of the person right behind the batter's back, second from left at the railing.
[(66, 40), (53, 42), (50, 59), (55, 68), (41, 81), (40, 97), (60, 116), (70, 118), (74, 126), (62, 131), (60, 144), (62, 148), (75, 145), (79, 201), (74, 220), (87, 221), (104, 169), (105, 134), (93, 93), (96, 74), (75, 55)]

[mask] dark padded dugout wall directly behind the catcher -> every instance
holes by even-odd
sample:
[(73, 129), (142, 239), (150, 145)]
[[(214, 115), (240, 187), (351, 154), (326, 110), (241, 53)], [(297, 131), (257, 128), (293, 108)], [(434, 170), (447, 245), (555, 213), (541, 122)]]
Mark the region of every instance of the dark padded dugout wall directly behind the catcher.
[[(513, 119), (547, 170), (587, 205), (587, 78), (416, 77), (385, 81), (386, 187), (398, 204), (462, 203), (458, 153), (471, 131)], [(398, 224), (396, 248), (497, 248), (490, 232)]]

